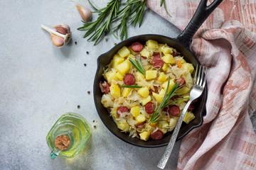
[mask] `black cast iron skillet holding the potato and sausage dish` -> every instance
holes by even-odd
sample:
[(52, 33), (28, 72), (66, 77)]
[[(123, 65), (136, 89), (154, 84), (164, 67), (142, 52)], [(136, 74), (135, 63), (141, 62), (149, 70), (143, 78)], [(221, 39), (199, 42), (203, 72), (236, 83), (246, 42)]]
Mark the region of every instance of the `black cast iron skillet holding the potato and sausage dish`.
[[(157, 42), (167, 44), (171, 47), (176, 48), (178, 52), (181, 52), (181, 54), (184, 56), (184, 59), (186, 62), (190, 62), (193, 64), (193, 67), (196, 68), (197, 64), (200, 64), (200, 62), (197, 60), (196, 56), (191, 51), (191, 40), (193, 38), (193, 35), (196, 33), (196, 30), (203, 24), (203, 22), (208, 18), (210, 13), (222, 2), (223, 0), (215, 0), (212, 4), (209, 6), (206, 5), (207, 0), (201, 0), (198, 9), (196, 13), (194, 14), (193, 18), (191, 19), (190, 23), (188, 23), (188, 26), (183, 30), (183, 32), (178, 35), (177, 38), (169, 38), (164, 35), (154, 35), (154, 34), (146, 34), (146, 35), (138, 35), (134, 36), (132, 38), (129, 38), (127, 40), (124, 40), (122, 42), (119, 42), (118, 45), (115, 45), (110, 51), (106, 52), (105, 54), (100, 55), (97, 59), (97, 72), (95, 75), (95, 81), (94, 81), (94, 100), (95, 100), (95, 106), (97, 108), (97, 112), (100, 115), (100, 118), (102, 122), (106, 125), (106, 127), (112, 132), (115, 136), (119, 137), (119, 139), (123, 140), (124, 142), (127, 142), (132, 145), (136, 145), (138, 147), (162, 147), (166, 146), (171, 138), (171, 132), (166, 133), (164, 137), (161, 140), (148, 140), (148, 141), (142, 141), (139, 140), (139, 138), (135, 137), (129, 137), (129, 133), (121, 132), (117, 128), (117, 125), (112, 120), (112, 117), (110, 117), (110, 113), (108, 113), (107, 108), (104, 108), (101, 103), (102, 98), (102, 92), (100, 91), (100, 81), (104, 81), (104, 78), (102, 76), (103, 69), (107, 66), (107, 64), (110, 63), (110, 60), (112, 60), (112, 57), (114, 54), (117, 53), (117, 51), (123, 47), (123, 46), (129, 46), (132, 44), (132, 42), (142, 42), (142, 44), (145, 44), (147, 40), (156, 40)], [(191, 121), (188, 125), (186, 123), (183, 123), (181, 126), (181, 130), (178, 133), (177, 140), (180, 140), (182, 137), (188, 134), (193, 128), (197, 128), (202, 125), (203, 123), (203, 115), (206, 112), (206, 98), (207, 98), (207, 84), (206, 88), (201, 96), (201, 98), (198, 99), (196, 109), (193, 111), (196, 118)]]

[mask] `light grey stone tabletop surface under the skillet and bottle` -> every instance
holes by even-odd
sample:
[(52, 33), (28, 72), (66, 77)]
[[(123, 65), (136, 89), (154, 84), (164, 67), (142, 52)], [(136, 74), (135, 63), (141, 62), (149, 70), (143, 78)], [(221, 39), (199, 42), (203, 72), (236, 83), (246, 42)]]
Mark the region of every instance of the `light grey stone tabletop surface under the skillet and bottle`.
[[(87, 1), (78, 4), (91, 8)], [(106, 1), (94, 4), (102, 7)], [(107, 42), (94, 46), (76, 30), (82, 26), (80, 20), (68, 0), (0, 1), (0, 169), (156, 169), (164, 147), (129, 145), (112, 135), (97, 115), (92, 94), (96, 60), (119, 40), (107, 35)], [(67, 23), (73, 40), (63, 48), (53, 46), (42, 23)], [(145, 33), (174, 37), (178, 30), (171, 28), (171, 23), (146, 10), (142, 27), (129, 27), (129, 37)], [(92, 128), (92, 136), (75, 158), (51, 160), (46, 135), (60, 115), (70, 111), (97, 128)], [(179, 145), (166, 169), (176, 169)]]

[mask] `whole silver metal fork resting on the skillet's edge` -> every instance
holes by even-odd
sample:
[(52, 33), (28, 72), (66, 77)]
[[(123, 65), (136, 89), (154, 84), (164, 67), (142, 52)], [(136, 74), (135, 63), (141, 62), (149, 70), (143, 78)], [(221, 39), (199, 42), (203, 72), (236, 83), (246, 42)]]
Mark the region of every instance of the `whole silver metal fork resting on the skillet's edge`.
[(203, 94), (203, 89), (206, 86), (206, 67), (196, 66), (196, 73), (194, 77), (194, 83), (193, 88), (190, 92), (190, 98), (188, 103), (186, 104), (185, 108), (183, 108), (183, 111), (181, 113), (180, 118), (178, 118), (178, 123), (174, 129), (173, 134), (171, 135), (171, 140), (169, 141), (169, 144), (166, 147), (166, 150), (161, 157), (161, 160), (159, 161), (159, 164), (157, 165), (160, 169), (164, 169), (166, 166), (166, 163), (171, 155), (171, 151), (174, 148), (174, 143), (176, 142), (176, 138), (178, 136), (178, 131), (181, 128), (181, 123), (183, 122), (183, 118), (186, 115), (186, 111), (188, 111), (188, 106), (190, 106), (191, 102), (195, 100), (196, 98), (200, 97), (201, 94)]

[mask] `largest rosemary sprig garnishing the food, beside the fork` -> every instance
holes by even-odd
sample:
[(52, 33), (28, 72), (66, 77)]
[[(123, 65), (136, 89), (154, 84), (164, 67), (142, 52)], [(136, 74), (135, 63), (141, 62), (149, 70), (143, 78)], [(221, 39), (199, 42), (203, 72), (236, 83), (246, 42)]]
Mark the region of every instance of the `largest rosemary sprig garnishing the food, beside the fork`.
[[(171, 101), (169, 102), (169, 100), (175, 96), (175, 95), (178, 95), (176, 94), (176, 91), (178, 89), (181, 89), (183, 86), (178, 86), (181, 82), (178, 82), (178, 83), (175, 83), (173, 88), (169, 91), (169, 85), (170, 85), (170, 77), (168, 79), (168, 84), (167, 84), (167, 88), (166, 88), (166, 92), (164, 94), (164, 98), (163, 100), (161, 101), (161, 103), (159, 104), (159, 106), (157, 106), (155, 108), (155, 111), (154, 113), (152, 114), (150, 120), (149, 120), (149, 123), (146, 125), (146, 128), (150, 125), (150, 124), (153, 124), (153, 123), (158, 123), (158, 122), (162, 122), (162, 121), (166, 121), (166, 120), (158, 120), (158, 118), (160, 117), (159, 115), (159, 111), (162, 109), (162, 108), (165, 108), (166, 106), (169, 106), (171, 103), (175, 103), (176, 101), (181, 101), (181, 100), (184, 100), (185, 98), (183, 99), (180, 99), (180, 100), (176, 100), (176, 101)], [(168, 93), (169, 91), (169, 93)], [(144, 130), (146, 130), (146, 128), (144, 128)], [(142, 132), (144, 131), (142, 130)]]

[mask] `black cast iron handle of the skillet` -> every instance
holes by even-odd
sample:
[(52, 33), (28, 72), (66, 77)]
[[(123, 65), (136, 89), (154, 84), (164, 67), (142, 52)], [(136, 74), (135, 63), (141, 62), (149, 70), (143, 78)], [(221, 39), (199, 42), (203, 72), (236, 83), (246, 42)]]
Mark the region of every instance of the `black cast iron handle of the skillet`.
[(193, 18), (188, 23), (188, 26), (183, 30), (183, 32), (178, 35), (176, 40), (181, 43), (181, 45), (185, 46), (189, 50), (191, 49), (191, 41), (193, 35), (195, 35), (198, 28), (206, 21), (206, 18), (210, 16), (210, 13), (223, 1), (223, 0), (215, 0), (212, 4), (207, 6), (208, 0), (201, 0), (198, 8), (196, 9), (196, 13), (193, 15)]

